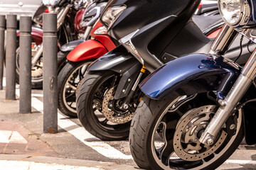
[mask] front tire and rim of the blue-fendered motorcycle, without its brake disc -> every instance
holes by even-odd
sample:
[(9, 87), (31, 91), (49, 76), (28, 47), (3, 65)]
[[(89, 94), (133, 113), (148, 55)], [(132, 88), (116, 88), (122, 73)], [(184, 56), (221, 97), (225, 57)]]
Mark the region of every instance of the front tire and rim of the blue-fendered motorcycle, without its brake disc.
[[(178, 102), (178, 98), (155, 101), (145, 97), (139, 104), (132, 120), (129, 134), (129, 144), (134, 161), (142, 169), (216, 169), (235, 152), (235, 149), (242, 141), (244, 136), (242, 113), (235, 113), (235, 116), (238, 117), (238, 128), (235, 135), (228, 134), (221, 146), (214, 151), (214, 154), (206, 149), (201, 155), (208, 153), (207, 156), (201, 157), (200, 155), (199, 159), (196, 159), (196, 157), (185, 157), (182, 154), (183, 159), (181, 159), (177, 157), (179, 156), (176, 153), (177, 149), (174, 149), (177, 147), (177, 145), (174, 145), (174, 143), (177, 144), (174, 139), (177, 140), (175, 138), (176, 134), (178, 134), (177, 129), (182, 127), (183, 121), (181, 120), (184, 120), (184, 115), (193, 114), (193, 111), (197, 111), (197, 108), (207, 108), (207, 106), (218, 108), (218, 106), (208, 98), (198, 95), (191, 101), (183, 103), (176, 111), (169, 113), (169, 108)], [(189, 142), (191, 142), (192, 146), (193, 142), (191, 140)], [(180, 143), (183, 143), (181, 148), (185, 147), (184, 141)], [(213, 148), (213, 145), (211, 146)], [(193, 145), (193, 147), (197, 147), (197, 145)], [(197, 154), (197, 152), (194, 154)], [(187, 161), (186, 159), (191, 160)], [(195, 160), (193, 161), (192, 159)]]

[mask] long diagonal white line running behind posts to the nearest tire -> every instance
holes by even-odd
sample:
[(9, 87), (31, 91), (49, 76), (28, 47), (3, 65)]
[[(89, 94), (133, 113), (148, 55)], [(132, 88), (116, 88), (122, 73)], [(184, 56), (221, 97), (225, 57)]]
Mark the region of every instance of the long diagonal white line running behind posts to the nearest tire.
[[(16, 95), (19, 96), (19, 89), (16, 89)], [(31, 99), (32, 107), (35, 108), (37, 111), (43, 113), (43, 102), (39, 101), (37, 98), (32, 97)], [(73, 121), (68, 120), (64, 115), (58, 113), (58, 126), (73, 135), (75, 138), (80, 140), (83, 144), (95, 149), (98, 153), (102, 154), (105, 157), (111, 159), (132, 159), (132, 155), (123, 154), (119, 150), (115, 149), (114, 147), (108, 145), (105, 142), (102, 142), (99, 138), (90, 135), (85, 128), (81, 128)], [(72, 130), (69, 128), (72, 127)], [(87, 141), (90, 140), (90, 141)]]

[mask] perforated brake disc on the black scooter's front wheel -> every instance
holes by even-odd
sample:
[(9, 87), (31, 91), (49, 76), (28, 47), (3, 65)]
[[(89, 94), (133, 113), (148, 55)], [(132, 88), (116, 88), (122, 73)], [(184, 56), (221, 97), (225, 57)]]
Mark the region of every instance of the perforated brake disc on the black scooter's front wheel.
[(105, 115), (107, 120), (110, 120), (112, 123), (117, 123), (117, 124), (123, 124), (127, 123), (132, 120), (134, 117), (134, 113), (125, 113), (120, 116), (114, 113), (111, 108), (109, 108), (109, 102), (114, 100), (114, 91), (115, 91), (116, 86), (112, 87), (107, 91), (107, 94), (103, 98), (102, 102), (102, 113)]

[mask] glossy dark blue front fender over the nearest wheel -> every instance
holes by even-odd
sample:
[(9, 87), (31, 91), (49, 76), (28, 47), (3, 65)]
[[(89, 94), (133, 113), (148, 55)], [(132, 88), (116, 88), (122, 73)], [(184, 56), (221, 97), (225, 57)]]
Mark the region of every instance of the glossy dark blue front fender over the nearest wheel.
[(146, 77), (140, 88), (150, 98), (175, 98), (218, 91), (220, 98), (230, 90), (240, 74), (238, 64), (224, 57), (187, 55), (164, 64)]

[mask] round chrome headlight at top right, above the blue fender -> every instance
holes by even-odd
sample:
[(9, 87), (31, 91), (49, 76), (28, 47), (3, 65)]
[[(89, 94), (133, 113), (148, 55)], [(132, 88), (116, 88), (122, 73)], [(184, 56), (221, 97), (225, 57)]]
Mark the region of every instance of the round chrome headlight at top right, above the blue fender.
[(231, 27), (245, 26), (250, 20), (250, 6), (246, 0), (219, 0), (220, 15)]

